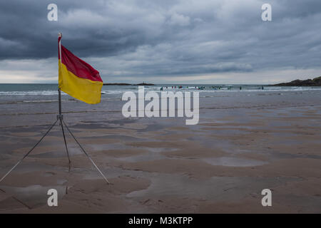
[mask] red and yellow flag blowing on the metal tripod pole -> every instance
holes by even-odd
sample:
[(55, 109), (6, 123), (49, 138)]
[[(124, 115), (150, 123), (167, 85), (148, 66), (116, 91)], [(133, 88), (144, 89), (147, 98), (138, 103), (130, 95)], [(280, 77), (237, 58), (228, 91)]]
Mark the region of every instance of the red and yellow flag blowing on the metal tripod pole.
[(58, 87), (61, 91), (83, 102), (100, 103), (103, 81), (99, 72), (73, 55), (60, 44), (60, 41), (61, 36), (58, 37)]

